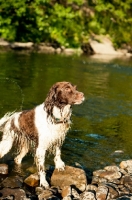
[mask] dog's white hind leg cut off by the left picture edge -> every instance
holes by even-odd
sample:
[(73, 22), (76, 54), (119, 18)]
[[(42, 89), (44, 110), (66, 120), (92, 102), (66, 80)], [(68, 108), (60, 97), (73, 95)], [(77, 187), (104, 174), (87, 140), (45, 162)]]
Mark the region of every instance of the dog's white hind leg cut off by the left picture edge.
[(4, 133), (0, 142), (0, 158), (7, 154), (13, 146), (14, 135), (11, 132)]

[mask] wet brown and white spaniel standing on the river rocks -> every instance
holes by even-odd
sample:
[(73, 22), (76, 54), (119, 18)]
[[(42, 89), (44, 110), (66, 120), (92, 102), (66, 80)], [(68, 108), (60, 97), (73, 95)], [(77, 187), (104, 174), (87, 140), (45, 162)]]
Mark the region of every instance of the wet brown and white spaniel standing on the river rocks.
[(64, 170), (60, 147), (70, 128), (71, 106), (81, 104), (84, 94), (77, 91), (69, 82), (54, 84), (44, 103), (32, 110), (7, 113), (0, 119), (0, 158), (7, 154), (14, 142), (17, 143), (19, 155), (14, 159), (21, 164), (22, 158), (35, 144), (35, 162), (40, 176), (40, 186), (48, 187), (45, 178), (44, 161), (47, 151), (55, 155), (55, 167)]

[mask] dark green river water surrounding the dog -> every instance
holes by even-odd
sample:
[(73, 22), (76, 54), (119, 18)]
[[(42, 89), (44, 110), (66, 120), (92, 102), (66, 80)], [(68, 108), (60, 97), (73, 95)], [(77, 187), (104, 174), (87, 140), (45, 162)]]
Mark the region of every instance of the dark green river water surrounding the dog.
[[(70, 81), (86, 100), (73, 107), (73, 124), (62, 148), (68, 165), (100, 169), (132, 158), (132, 59), (46, 54), (0, 54), (0, 117), (44, 101), (57, 81)], [(116, 150), (124, 153), (115, 154)], [(2, 162), (11, 164), (12, 152)], [(53, 165), (52, 157), (46, 161)], [(33, 157), (22, 167), (32, 166)]]

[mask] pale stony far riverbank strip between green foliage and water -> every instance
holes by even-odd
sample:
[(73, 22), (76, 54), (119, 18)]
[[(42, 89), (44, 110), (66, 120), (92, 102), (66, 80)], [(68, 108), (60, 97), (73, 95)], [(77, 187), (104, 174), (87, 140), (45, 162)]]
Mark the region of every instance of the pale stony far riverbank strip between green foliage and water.
[(0, 39), (0, 51), (26, 51), (26, 52), (41, 52), (48, 54), (87, 54), (87, 55), (112, 55), (112, 56), (132, 56), (132, 49), (129, 46), (124, 46), (122, 49), (115, 49), (108, 36), (94, 36), (88, 43), (82, 44), (81, 48), (65, 48), (64, 46), (55, 46), (50, 43), (33, 43), (33, 42), (7, 42)]

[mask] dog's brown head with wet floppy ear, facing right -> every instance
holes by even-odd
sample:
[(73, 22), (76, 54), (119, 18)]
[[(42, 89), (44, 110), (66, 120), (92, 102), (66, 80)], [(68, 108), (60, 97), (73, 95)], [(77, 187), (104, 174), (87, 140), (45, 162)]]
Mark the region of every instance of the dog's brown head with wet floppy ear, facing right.
[(54, 106), (63, 109), (66, 105), (81, 104), (84, 101), (84, 94), (76, 89), (76, 86), (69, 82), (55, 83), (45, 100), (45, 108), (48, 115), (52, 114)]

